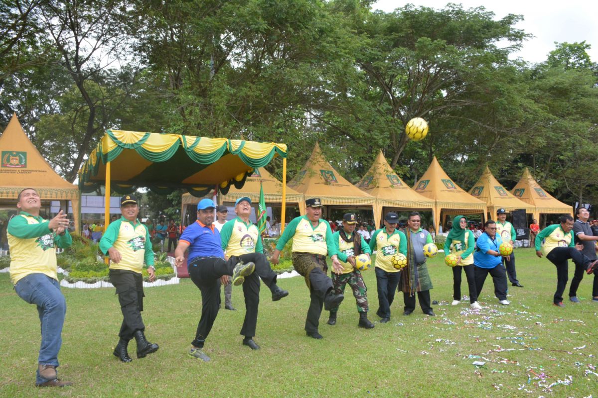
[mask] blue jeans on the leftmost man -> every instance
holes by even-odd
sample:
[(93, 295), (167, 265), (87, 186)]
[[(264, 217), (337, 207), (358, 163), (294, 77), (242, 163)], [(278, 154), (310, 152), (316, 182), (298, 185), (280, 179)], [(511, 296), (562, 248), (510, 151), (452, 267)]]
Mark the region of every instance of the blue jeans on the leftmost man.
[[(41, 345), (39, 365), (58, 366), (58, 352), (62, 345), (62, 325), (65, 323), (66, 301), (60, 292), (60, 284), (45, 274), (29, 274), (14, 286), (20, 298), (35, 304), (41, 322)], [(38, 383), (47, 380), (37, 377)]]

